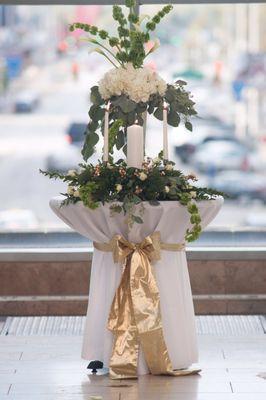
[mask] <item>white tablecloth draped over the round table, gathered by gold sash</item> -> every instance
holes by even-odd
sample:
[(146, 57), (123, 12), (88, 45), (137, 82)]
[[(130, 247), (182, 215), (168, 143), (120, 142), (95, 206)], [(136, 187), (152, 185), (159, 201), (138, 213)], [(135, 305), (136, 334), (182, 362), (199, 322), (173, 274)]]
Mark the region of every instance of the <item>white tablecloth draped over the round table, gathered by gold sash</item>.
[[(135, 223), (131, 230), (128, 230), (123, 214), (110, 216), (108, 204), (90, 210), (82, 202), (61, 206), (61, 201), (62, 197), (53, 198), (50, 201), (52, 210), (75, 231), (96, 242), (108, 242), (113, 235), (121, 234), (125, 239), (138, 243), (154, 231), (160, 231), (162, 242), (182, 243), (190, 226), (186, 208), (175, 201), (164, 201), (159, 206), (144, 202), (144, 223)], [(197, 204), (204, 228), (220, 210), (223, 198)], [(154, 268), (168, 353), (173, 368), (187, 368), (198, 361), (198, 350), (185, 251), (162, 250), (161, 260), (154, 264)], [(107, 318), (121, 272), (121, 265), (113, 262), (111, 253), (94, 250), (82, 357), (101, 360), (105, 367), (109, 365), (113, 339), (106, 328)], [(148, 369), (141, 351), (138, 374), (145, 373)]]

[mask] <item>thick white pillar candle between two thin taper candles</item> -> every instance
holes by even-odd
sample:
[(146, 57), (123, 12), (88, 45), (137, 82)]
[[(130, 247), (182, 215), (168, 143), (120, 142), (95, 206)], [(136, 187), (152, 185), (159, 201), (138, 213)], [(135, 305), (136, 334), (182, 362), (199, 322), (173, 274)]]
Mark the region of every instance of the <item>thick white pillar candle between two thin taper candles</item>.
[(141, 168), (144, 159), (143, 128), (131, 125), (127, 128), (127, 165)]

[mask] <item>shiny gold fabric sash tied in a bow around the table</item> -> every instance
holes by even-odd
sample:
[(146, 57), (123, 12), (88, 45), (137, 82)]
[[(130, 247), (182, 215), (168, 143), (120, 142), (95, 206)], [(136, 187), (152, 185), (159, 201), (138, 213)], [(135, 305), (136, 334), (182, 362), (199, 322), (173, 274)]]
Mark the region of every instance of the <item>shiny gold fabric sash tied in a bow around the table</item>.
[(181, 251), (185, 245), (162, 243), (160, 232), (154, 232), (139, 244), (115, 235), (109, 243), (94, 243), (94, 247), (112, 252), (114, 262), (124, 265), (108, 318), (108, 329), (114, 334), (111, 378), (137, 378), (140, 344), (152, 374), (195, 373), (194, 370), (173, 370), (163, 336), (160, 295), (151, 265), (151, 261), (160, 259), (161, 249)]

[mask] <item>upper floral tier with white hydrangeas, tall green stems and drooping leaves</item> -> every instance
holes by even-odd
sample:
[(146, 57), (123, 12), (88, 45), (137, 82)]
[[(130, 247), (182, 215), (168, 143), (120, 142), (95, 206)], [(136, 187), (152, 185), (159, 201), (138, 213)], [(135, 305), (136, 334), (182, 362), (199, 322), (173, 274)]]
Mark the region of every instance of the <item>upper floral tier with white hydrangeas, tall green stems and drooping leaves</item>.
[(135, 12), (135, 0), (126, 0), (128, 15), (122, 8), (113, 7), (113, 18), (117, 22), (118, 36), (111, 36), (97, 26), (76, 22), (70, 31), (80, 29), (88, 36), (83, 40), (94, 45), (92, 50), (104, 56), (112, 65), (100, 80), (98, 86), (91, 88), (90, 122), (87, 126), (82, 155), (88, 160), (94, 153), (94, 147), (103, 134), (104, 111), (109, 107), (109, 129), (112, 139), (109, 152), (114, 147), (126, 153), (127, 127), (137, 122), (143, 126), (147, 113), (163, 120), (163, 108), (167, 107), (167, 122), (177, 127), (184, 122), (192, 131), (190, 117), (197, 114), (189, 92), (185, 90), (186, 82), (178, 80), (167, 84), (156, 72), (143, 66), (145, 59), (159, 47), (156, 38), (151, 34), (171, 10), (166, 5), (153, 17), (138, 16)]

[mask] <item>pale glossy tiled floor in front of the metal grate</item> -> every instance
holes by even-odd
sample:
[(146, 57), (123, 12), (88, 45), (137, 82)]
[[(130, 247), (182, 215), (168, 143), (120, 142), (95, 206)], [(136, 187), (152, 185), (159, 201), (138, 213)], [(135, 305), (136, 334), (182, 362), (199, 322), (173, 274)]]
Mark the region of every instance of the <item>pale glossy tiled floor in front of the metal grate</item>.
[(80, 359), (82, 338), (0, 336), (1, 400), (266, 400), (266, 335), (199, 335), (202, 373), (111, 381)]

